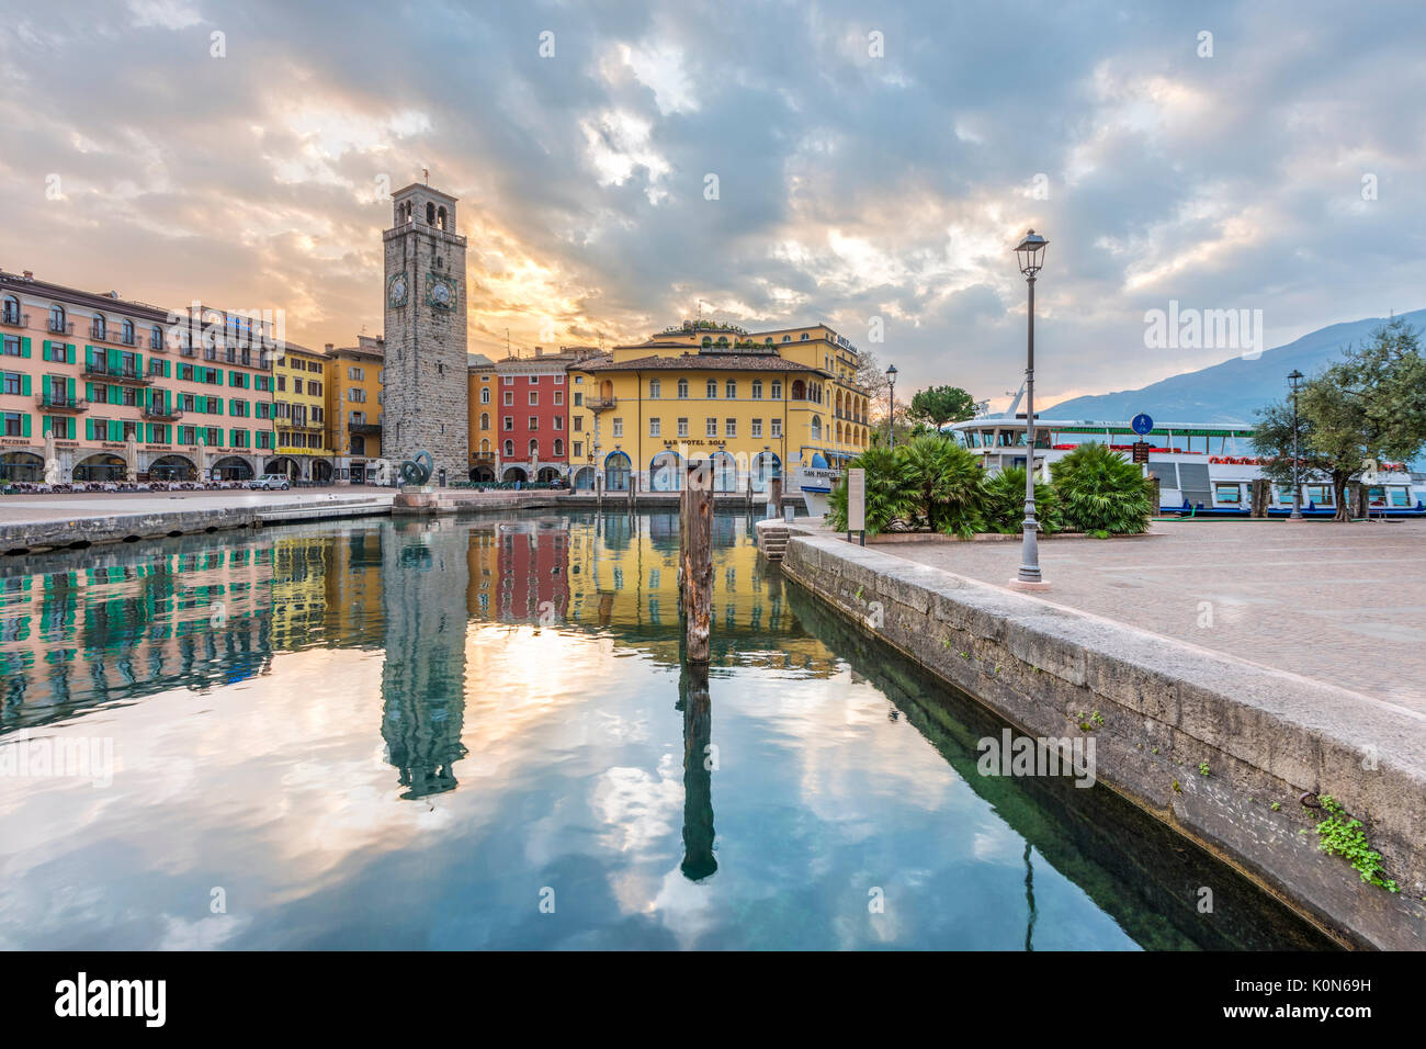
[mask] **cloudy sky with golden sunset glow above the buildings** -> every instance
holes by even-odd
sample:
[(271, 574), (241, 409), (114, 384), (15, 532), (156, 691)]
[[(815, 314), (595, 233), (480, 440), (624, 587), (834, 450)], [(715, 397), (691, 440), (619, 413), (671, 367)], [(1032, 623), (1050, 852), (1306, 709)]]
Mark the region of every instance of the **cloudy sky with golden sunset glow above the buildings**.
[(1426, 305), (1419, 3), (0, 13), (0, 268), (281, 308), (307, 345), (379, 333), (384, 193), (422, 168), (461, 198), (486, 353), (640, 338), (702, 301), (827, 321), (900, 390), (1002, 404), (1028, 227), (1051, 401), (1232, 355), (1147, 348), (1169, 300), (1262, 310), (1266, 345)]

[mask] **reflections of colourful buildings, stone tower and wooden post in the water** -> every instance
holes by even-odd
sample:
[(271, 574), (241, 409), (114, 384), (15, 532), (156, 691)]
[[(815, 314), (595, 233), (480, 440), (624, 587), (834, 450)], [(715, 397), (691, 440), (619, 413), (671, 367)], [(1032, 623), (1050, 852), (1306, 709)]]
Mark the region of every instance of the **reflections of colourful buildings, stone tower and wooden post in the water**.
[[(752, 521), (714, 517), (713, 665), (826, 676), (831, 654), (786, 611)], [(188, 535), (0, 561), (0, 739), (113, 702), (270, 674), (311, 648), (384, 651), (381, 735), (399, 795), (458, 786), (472, 629), (597, 632), (676, 667), (674, 514), (354, 521)], [(483, 644), (499, 644), (498, 638)], [(533, 668), (550, 675), (559, 665)], [(499, 689), (501, 682), (479, 682)], [(301, 704), (302, 696), (292, 696)], [(706, 675), (682, 679), (690, 878), (713, 861)], [(706, 873), (700, 873), (706, 872)]]

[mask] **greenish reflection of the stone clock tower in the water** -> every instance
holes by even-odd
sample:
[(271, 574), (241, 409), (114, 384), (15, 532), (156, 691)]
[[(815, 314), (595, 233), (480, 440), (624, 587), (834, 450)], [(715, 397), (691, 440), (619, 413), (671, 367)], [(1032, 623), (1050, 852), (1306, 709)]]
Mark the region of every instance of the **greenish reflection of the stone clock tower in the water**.
[(394, 524), (382, 534), (381, 736), (402, 798), (456, 788), (465, 756), (468, 567), (455, 521)]

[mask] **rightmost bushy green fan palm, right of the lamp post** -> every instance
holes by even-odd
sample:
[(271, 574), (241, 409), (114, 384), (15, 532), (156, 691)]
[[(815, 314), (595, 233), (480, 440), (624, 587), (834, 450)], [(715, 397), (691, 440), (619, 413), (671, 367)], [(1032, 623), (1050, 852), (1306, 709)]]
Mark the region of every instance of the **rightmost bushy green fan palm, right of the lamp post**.
[[(1081, 444), (1050, 465), (1060, 521), (1091, 535), (1138, 535), (1154, 515), (1154, 485), (1112, 448)], [(1024, 475), (1021, 477), (1024, 481)]]

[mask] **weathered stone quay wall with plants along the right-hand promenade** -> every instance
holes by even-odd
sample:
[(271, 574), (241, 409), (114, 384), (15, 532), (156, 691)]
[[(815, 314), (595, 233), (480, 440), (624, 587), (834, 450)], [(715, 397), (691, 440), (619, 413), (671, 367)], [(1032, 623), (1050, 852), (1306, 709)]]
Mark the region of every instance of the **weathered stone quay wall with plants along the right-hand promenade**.
[[(1094, 735), (1098, 782), (1345, 946), (1426, 949), (1413, 712), (837, 538), (794, 529), (781, 569), (1021, 731)], [(1363, 821), (1399, 893), (1318, 849), (1305, 792)]]

